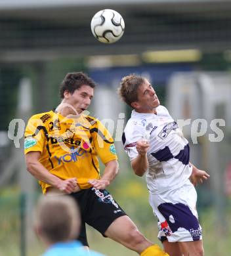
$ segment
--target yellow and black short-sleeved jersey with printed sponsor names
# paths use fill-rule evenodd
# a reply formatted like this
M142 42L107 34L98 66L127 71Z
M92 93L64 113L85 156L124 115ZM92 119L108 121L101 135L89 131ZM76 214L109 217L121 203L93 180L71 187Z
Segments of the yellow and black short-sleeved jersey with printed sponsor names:
M89 179L100 179L97 156L102 163L116 160L114 140L94 117L67 118L50 112L32 116L24 142L25 154L41 152L40 163L60 179L76 177L79 187L89 188ZM51 185L39 181L43 194Z

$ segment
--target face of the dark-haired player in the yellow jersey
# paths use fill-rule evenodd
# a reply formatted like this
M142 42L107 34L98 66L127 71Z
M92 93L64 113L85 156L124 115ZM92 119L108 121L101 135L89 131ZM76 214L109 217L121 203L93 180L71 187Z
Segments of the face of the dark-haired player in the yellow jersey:
M78 113L87 110L91 104L91 100L94 96L94 89L89 85L82 85L79 89L76 89L73 94L66 93L65 102L71 104Z

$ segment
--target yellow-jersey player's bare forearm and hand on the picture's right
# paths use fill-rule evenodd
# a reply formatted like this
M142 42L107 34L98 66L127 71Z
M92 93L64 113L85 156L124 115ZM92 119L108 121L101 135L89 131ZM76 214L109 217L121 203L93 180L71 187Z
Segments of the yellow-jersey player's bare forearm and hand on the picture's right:
M98 179L91 179L89 183L93 185L94 188L97 189L105 189L116 177L119 171L119 164L117 160L108 161L105 163L104 174L102 177Z

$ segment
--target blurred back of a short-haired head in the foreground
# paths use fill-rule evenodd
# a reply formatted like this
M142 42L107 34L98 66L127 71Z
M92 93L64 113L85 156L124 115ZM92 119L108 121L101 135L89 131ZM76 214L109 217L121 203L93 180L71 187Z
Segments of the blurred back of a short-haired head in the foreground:
M46 245L73 240L79 234L79 209L69 196L42 196L34 222L35 232Z

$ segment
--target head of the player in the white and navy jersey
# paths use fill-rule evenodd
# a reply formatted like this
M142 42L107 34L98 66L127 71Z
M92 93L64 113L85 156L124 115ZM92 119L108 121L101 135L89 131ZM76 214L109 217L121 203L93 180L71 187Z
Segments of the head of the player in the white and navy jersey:
M123 77L118 92L123 101L137 112L152 112L159 106L159 99L152 85L140 75Z

